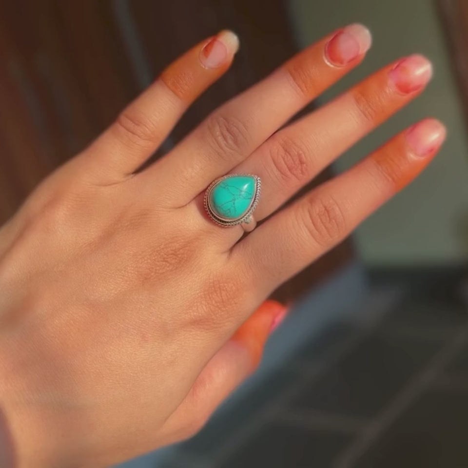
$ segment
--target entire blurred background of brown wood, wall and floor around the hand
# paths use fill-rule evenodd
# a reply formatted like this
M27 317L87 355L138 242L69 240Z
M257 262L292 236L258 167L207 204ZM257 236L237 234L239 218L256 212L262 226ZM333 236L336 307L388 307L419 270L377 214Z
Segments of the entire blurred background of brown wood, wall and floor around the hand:
M293 304L288 319L259 372L198 436L121 468L468 466L468 2L0 1L1 222L200 39L231 28L240 52L160 153L352 22L370 27L372 49L304 112L413 52L433 61L435 75L314 184L428 115L446 123L446 145L352 238L275 292Z

